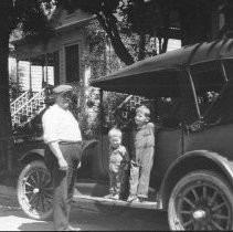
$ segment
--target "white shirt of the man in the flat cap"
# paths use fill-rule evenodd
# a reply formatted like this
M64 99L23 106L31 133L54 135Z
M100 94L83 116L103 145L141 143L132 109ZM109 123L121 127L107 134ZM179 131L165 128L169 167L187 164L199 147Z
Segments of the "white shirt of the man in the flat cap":
M82 141L80 126L68 109L57 104L50 106L42 117L44 143L51 141Z

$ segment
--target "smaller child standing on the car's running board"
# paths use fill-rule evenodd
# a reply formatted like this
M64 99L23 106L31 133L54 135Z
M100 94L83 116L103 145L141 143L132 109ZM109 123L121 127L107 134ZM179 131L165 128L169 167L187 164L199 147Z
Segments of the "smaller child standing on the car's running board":
M128 168L129 156L121 145L121 131L113 128L108 133L109 138L109 180L110 194L105 198L119 200L124 191L125 171Z

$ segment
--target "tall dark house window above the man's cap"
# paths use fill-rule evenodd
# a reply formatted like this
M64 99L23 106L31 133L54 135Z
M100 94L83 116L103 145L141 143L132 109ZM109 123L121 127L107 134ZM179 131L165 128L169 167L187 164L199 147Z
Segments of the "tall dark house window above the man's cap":
M80 82L78 44L65 48L66 82Z

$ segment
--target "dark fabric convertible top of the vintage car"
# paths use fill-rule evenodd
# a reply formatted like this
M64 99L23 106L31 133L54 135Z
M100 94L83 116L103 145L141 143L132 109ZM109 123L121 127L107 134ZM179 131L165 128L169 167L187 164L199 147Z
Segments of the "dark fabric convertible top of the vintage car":
M92 86L148 97L177 95L177 74L184 66L233 59L233 40L198 43L167 52L92 82Z

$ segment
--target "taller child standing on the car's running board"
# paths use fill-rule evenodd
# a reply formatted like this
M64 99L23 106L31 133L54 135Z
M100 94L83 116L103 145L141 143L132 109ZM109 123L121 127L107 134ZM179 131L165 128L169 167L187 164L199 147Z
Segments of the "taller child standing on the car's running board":
M155 125L149 123L150 110L141 105L136 108L135 123L129 148L131 155L129 197L127 201L139 202L148 198L150 170L155 152Z

